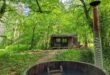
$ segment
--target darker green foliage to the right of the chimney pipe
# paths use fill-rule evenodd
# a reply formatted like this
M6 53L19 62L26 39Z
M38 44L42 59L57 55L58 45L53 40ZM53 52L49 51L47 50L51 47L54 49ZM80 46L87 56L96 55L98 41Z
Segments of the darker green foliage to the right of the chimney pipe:
M101 39L102 39L102 47L105 59L110 60L110 14L108 9L110 6L110 1L104 1L100 6L100 22L101 22ZM103 7L103 5L105 5ZM108 61L107 61L108 62ZM109 65L108 65L109 66Z

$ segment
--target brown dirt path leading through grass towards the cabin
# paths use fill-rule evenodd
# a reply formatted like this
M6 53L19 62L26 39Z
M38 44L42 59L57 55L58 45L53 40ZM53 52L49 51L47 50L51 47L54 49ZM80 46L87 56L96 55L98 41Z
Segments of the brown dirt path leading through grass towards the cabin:
M53 58L59 52L59 50L46 50L45 53L47 53L47 56L40 58L37 63L51 61L51 58Z

